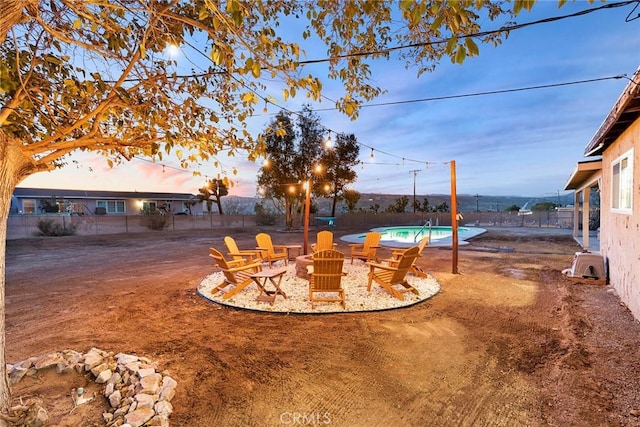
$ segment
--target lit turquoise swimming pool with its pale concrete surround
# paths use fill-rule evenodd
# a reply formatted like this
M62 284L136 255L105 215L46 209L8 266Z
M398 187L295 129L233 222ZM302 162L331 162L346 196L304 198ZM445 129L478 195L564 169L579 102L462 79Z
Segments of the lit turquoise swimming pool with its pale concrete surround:
M382 234L380 244L391 247L411 247L423 237L429 236L429 246L451 246L452 230L450 226L399 226L399 227L378 227L371 231L378 231ZM478 227L458 227L458 244L466 245L467 239L479 236L486 232L484 228ZM349 243L362 243L367 233L348 234L342 236L340 240Z

